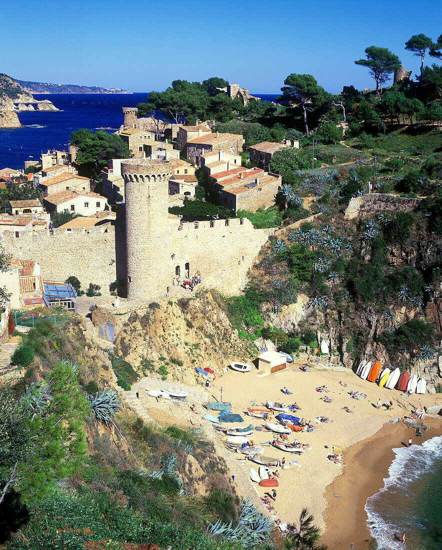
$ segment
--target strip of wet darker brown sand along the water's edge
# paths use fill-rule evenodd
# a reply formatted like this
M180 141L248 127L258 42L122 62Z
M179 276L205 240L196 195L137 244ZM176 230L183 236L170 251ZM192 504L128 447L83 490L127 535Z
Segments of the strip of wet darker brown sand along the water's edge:
M344 471L324 491L328 505L323 514L327 527L322 543L329 548L347 549L351 543L357 548L367 547L371 532L365 504L384 486L384 478L388 477L396 456L393 449L407 443L410 437L413 444L421 445L442 434L442 419L427 417L424 422L430 429L422 438L415 437L415 430L407 428L400 419L395 424L385 424L372 437L344 450Z

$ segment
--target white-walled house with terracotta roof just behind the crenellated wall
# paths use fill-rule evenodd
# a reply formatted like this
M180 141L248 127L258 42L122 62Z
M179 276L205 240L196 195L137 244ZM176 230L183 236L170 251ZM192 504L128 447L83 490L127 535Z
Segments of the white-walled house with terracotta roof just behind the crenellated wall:
M53 216L55 213L68 210L81 216L92 216L109 208L106 197L97 193L86 193L86 191L61 191L56 195L49 195L43 199L46 210Z

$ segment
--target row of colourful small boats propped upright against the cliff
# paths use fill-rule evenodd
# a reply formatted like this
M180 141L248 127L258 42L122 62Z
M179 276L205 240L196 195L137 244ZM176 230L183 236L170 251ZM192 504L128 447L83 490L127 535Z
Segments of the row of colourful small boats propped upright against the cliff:
M379 380L379 387L386 387L388 389L399 389L400 392L410 393L426 393L427 381L423 378L417 378L413 375L410 378L408 372L402 372L399 368L395 368L394 371L390 371L389 368L384 368L381 372L380 361L376 361L372 364L371 361L362 360L357 367L356 374L363 380L368 382L376 382Z

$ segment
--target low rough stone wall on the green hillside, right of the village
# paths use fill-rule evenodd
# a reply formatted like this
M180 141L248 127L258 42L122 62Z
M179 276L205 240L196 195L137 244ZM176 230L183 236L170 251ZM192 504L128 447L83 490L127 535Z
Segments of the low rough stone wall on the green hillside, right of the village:
M380 193L366 193L353 197L345 211L345 219L354 219L374 212L411 212L416 208L418 199L398 197Z

